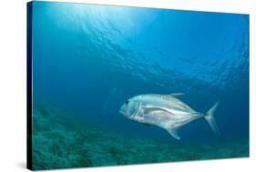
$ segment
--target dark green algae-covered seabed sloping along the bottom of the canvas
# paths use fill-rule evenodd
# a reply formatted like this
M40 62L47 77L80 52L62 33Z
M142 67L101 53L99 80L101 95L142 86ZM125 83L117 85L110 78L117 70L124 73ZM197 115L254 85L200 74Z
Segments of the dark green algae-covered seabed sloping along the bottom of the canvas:
M54 106L34 108L34 170L249 157L246 141L213 146L159 143L89 123L81 125L64 114Z

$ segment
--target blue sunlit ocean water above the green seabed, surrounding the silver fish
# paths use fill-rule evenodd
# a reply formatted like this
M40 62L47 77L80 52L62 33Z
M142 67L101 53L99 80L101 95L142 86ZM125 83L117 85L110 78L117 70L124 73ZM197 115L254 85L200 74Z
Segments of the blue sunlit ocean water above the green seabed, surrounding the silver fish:
M34 2L32 35L34 109L159 144L249 144L249 15ZM171 93L203 113L220 101L220 136L200 118L178 141L118 113L131 96Z

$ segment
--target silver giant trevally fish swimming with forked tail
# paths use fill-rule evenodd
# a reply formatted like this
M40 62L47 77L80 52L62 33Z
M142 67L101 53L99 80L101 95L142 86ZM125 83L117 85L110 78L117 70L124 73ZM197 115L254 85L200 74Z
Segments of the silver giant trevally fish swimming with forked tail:
M178 129L189 122L204 117L212 130L220 134L214 119L214 112L219 102L210 108L208 112L200 113L193 110L177 96L171 95L139 95L129 98L121 107L119 112L131 120L146 125L159 126L166 129L172 137L180 139Z

